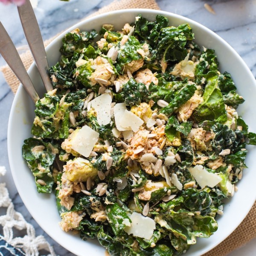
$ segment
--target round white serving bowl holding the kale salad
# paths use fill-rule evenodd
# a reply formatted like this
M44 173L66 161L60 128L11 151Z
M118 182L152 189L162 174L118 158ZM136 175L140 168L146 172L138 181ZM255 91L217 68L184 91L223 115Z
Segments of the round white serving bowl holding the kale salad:
M255 132L256 81L236 51L205 26L169 12L149 9L126 9L92 17L76 24L66 32L77 27L80 30L96 29L99 31L104 23L111 23L115 26L115 29L121 29L125 23L134 22L135 17L139 14L149 20L154 20L157 14L164 15L169 18L170 25L173 26L189 23L195 33L195 41L201 47L215 49L221 72L227 71L231 73L239 94L245 99L244 104L239 107L239 115L243 116L243 119L249 125L250 131ZM60 57L61 38L66 32L59 35L46 49L50 66L54 65ZM32 64L28 73L33 84L37 84L37 87L40 88L42 95L44 87L35 64ZM105 249L96 240L83 241L73 233L62 231L58 225L61 219L55 206L55 196L53 194L38 194L36 190L34 177L23 160L21 151L23 141L31 137L30 131L35 117L34 109L32 100L24 88L20 86L12 104L8 127L9 162L20 197L35 221L58 244L78 256L83 256L85 253L86 255L103 256L105 255ZM256 172L253 171L253 166L256 166L256 157L253 157L256 153L256 147L250 146L248 149L249 153L246 159L248 169L244 170L243 178L238 183L238 192L227 201L224 207L224 215L218 218L219 227L217 232L209 239L198 239L198 242L188 250L186 256L200 256L218 245L236 229L252 207L256 199L256 189L254 189Z

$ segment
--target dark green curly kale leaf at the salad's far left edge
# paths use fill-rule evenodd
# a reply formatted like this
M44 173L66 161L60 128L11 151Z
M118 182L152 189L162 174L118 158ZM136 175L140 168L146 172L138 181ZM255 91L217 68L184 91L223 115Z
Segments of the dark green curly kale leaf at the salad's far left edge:
M51 193L54 179L52 177L53 161L58 149L50 142L29 138L24 140L22 156L35 176L39 193Z

